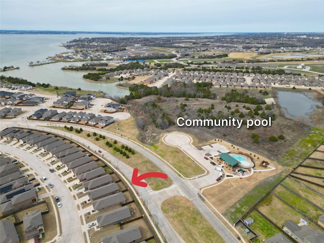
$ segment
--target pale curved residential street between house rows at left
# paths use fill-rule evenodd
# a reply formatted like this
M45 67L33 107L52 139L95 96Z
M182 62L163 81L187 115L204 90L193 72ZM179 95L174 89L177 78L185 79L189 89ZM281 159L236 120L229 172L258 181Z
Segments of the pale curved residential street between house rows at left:
M50 194L59 196L62 205L61 208L56 208L59 211L62 226L62 236L60 237L59 242L84 242L83 232L81 229L82 226L77 208L74 199L64 182L55 173L50 173L49 167L34 154L5 144L1 145L0 150L3 153L11 154L12 156L18 157L19 160L25 161L28 166L34 169L32 172L38 174L38 176L36 176L37 179L45 176L47 180L45 183L42 183L43 186L48 185L48 183L53 184L53 188L48 188ZM56 206L53 205L53 207Z

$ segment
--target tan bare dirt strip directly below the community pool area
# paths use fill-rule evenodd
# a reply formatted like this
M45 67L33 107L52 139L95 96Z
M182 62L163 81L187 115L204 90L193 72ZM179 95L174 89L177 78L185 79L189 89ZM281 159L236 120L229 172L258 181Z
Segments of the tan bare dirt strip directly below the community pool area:
M248 178L233 178L224 180L222 183L217 184L214 187L204 190L203 195L215 206L221 213L224 213L230 206L244 196L248 191L253 189L261 181L267 177L278 174L282 167L275 164L271 165L276 170L255 172L251 177ZM261 169L256 166L255 169ZM264 169L264 168L263 168Z

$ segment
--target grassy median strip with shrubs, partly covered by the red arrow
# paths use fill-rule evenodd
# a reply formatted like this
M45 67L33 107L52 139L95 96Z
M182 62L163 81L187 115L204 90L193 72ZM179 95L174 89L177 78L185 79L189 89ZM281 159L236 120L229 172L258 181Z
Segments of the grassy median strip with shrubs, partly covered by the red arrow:
M55 127L55 129L69 132L68 130L66 130L64 128ZM69 132L69 133L75 134L75 132ZM90 137L87 137L88 133L91 134ZM139 174L143 174L143 173L151 172L151 171L162 172L150 160L148 160L146 157L144 157L142 154L140 154L138 152L135 152L135 154L129 153L130 158L126 158L119 152L113 150L113 147L108 147L105 143L106 143L106 141L109 141L112 143L113 142L112 139L100 138L99 141L96 141L96 137L99 138L99 133L98 133L98 136L93 136L93 133L90 133L90 132L87 132L86 130L84 130L82 133L78 134L78 136L90 141L91 143L95 144L96 146L109 152L110 154L115 156L117 159L123 161L123 163L127 164L128 166L130 166L132 168L137 168L139 170ZM121 143L117 142L117 144L115 144L115 145L121 146ZM166 180L161 179L161 178L156 178L156 177L148 178L148 179L146 179L146 182L153 190L160 190L160 189L167 188L172 185L172 181L170 178L168 178Z

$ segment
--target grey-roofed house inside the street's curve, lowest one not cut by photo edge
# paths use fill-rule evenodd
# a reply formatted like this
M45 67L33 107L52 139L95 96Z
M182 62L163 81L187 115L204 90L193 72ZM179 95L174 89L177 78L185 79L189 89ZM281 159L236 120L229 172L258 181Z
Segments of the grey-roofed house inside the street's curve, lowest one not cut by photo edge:
M33 239L45 233L42 212L35 210L23 216L24 233L26 239Z

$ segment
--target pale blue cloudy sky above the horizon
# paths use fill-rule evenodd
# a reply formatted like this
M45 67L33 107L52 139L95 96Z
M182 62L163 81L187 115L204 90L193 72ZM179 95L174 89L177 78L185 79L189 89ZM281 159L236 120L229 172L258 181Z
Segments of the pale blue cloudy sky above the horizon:
M0 0L0 29L324 32L324 0Z

